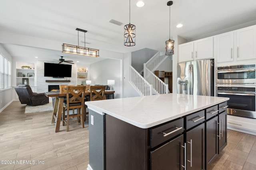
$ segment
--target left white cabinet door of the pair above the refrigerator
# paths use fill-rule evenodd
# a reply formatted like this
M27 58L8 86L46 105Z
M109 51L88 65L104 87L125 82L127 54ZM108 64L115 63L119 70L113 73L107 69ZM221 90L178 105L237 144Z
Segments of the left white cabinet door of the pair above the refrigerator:
M194 60L194 42L184 43L178 45L178 62L193 61Z

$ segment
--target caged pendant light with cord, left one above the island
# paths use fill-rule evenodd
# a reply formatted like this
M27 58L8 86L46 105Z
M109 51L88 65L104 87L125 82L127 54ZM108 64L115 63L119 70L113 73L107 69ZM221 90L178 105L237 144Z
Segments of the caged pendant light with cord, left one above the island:
M130 0L130 8L129 8L129 24L124 25L124 45L125 46L134 46L135 43L135 29L136 26L132 25L130 23L130 19L131 19L131 0Z

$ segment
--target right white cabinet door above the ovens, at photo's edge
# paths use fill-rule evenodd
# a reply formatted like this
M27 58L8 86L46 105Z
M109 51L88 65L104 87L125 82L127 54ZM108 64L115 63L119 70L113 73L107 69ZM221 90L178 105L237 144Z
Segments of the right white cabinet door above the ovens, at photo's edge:
M256 27L246 27L236 32L236 60L256 58Z

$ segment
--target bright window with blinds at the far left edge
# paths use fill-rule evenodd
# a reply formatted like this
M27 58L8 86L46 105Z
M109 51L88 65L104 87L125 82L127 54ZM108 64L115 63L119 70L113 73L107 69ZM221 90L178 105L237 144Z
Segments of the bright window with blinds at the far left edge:
M11 87L11 62L0 54L0 89Z

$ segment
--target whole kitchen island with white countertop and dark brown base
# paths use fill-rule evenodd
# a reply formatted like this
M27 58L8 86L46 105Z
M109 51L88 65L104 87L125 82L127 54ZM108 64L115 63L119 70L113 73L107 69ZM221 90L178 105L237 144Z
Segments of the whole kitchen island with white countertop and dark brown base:
M227 100L162 94L86 102L87 169L207 169L226 146Z

